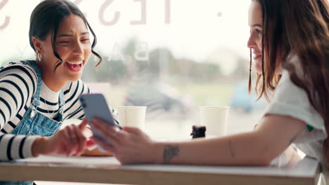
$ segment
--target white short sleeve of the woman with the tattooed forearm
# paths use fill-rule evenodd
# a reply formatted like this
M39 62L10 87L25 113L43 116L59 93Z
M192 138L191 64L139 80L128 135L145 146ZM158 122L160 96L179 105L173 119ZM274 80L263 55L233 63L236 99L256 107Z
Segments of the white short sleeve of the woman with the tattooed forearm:
M304 133L295 142L311 142L327 137L323 118L309 102L307 93L290 80L288 71L283 75L274 92L273 100L266 107L265 114L290 116L307 124Z

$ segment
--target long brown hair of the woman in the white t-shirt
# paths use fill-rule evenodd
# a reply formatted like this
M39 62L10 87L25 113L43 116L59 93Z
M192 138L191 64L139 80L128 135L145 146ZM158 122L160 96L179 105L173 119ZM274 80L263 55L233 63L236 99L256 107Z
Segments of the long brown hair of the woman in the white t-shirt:
M311 105L329 130L329 4L327 0L257 0L262 6L263 69L257 76L259 97L269 95L280 79L276 57L290 74L292 83L307 93ZM279 53L279 55L278 55ZM265 54L265 55L264 55ZM302 76L297 75L291 54L299 58ZM251 62L251 61L250 61ZM323 144L329 162L329 142ZM328 167L327 163L327 167Z

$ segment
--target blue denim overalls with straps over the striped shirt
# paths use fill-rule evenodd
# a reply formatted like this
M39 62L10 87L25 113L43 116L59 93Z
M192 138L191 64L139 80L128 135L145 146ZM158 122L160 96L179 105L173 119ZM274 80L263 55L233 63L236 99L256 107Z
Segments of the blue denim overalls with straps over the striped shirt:
M51 118L47 118L46 116L40 114L36 111L37 107L40 105L40 88L41 88L41 72L37 63L34 60L28 60L28 64L33 67L34 71L37 73L37 90L32 97L32 104L30 108L26 111L25 115L20 121L20 124L11 132L13 135L43 135L43 136L51 136L55 134L59 129L60 125L63 122L63 105L64 105L64 95L63 90L60 91L60 105L58 112L58 121L54 121ZM13 172L15 173L15 172ZM20 175L20 174L17 174ZM42 174L40 174L42 175ZM20 184L20 185L32 185L33 181L0 181L0 184Z

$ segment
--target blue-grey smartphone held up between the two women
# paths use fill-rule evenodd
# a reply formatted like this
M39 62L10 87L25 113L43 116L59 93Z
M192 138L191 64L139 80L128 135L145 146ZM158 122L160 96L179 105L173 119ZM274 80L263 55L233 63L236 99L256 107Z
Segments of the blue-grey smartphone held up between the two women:
M87 94L80 95L79 100L84 109L84 116L86 116L86 121L91 123L93 118L101 118L105 123L109 125L115 126L117 128L122 128L120 125L115 123L114 118L110 109L108 108L108 104L105 100L105 97L102 94ZM110 144L107 139L104 139L97 130L93 129L91 125L91 131L93 135L102 139L103 142Z

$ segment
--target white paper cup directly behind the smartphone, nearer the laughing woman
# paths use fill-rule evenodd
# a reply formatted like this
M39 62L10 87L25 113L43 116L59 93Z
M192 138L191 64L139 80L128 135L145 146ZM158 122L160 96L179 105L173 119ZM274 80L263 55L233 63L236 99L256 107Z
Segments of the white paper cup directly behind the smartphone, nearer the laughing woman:
M147 107L117 107L120 125L144 129Z

